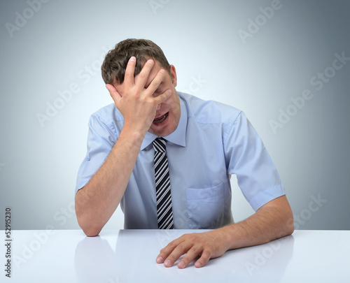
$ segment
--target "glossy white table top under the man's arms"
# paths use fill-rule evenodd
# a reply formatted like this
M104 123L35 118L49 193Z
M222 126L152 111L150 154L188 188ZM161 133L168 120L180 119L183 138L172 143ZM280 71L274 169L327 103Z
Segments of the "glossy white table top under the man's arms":
M0 282L350 282L350 231L295 231L227 252L203 268L155 263L159 250L194 230L12 231L11 279ZM4 239L5 232L0 231Z

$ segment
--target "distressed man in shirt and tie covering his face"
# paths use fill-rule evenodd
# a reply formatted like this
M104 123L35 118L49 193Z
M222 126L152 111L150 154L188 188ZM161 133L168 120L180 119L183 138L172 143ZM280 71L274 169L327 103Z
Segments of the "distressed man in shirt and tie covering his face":
M86 235L98 235L119 204L125 228L212 228L170 242L156 259L169 267L186 254L177 265L185 268L199 256L199 268L228 249L293 233L279 175L244 113L176 92L176 69L152 41L118 43L102 77L114 103L90 118L76 184L76 215ZM167 159L161 174L158 150ZM256 211L237 224L231 174ZM160 175L167 184L158 191Z

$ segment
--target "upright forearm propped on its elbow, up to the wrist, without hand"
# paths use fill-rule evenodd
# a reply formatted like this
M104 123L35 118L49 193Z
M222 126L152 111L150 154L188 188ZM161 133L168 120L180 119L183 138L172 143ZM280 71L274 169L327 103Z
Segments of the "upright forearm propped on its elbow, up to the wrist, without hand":
M98 235L118 207L144 134L123 129L109 157L76 194L76 216L86 235Z

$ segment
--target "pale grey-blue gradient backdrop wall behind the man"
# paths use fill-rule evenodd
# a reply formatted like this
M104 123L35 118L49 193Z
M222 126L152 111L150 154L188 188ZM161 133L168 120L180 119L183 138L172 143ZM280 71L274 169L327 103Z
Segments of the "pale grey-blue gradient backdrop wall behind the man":
M239 29L271 1L48 1L10 37L26 1L1 1L0 228L13 210L13 228L78 228L73 215L76 174L86 151L87 121L112 103L99 59L125 38L148 38L164 50L179 75L178 91L193 77L197 92L246 113L269 151L286 187L300 229L350 229L350 61L317 91L309 80L332 65L334 54L350 57L349 1L286 1L244 44ZM167 3L166 3L167 2ZM82 71L83 70L83 71ZM83 73L82 73L83 72ZM38 122L46 103L76 82L80 92L55 117ZM290 97L310 89L313 99L277 132ZM195 89L197 90L197 89ZM253 213L232 179L235 221ZM309 211L312 196L326 202ZM308 211L307 211L308 210ZM123 228L118 208L105 228Z

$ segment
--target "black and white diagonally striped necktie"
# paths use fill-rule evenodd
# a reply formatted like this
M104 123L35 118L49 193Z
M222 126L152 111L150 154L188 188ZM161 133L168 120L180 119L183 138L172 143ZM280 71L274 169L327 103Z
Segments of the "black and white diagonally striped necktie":
M169 166L167 152L165 150L166 144L167 140L164 138L153 140L157 218L158 228L174 229Z

